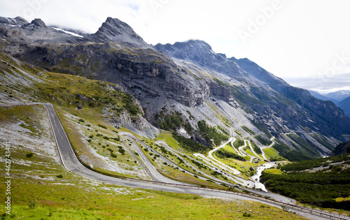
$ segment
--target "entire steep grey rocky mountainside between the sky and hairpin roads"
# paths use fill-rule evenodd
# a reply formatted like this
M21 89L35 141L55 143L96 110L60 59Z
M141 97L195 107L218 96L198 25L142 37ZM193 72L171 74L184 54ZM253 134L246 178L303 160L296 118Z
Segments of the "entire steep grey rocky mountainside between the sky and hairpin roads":
M215 145L217 133L258 145L274 135L280 154L295 159L297 152L328 155L350 133L350 119L333 103L290 87L248 59L216 54L203 41L153 50L112 18L83 38L41 20L0 21L6 53L48 71L116 83L139 99L148 122L204 145Z

